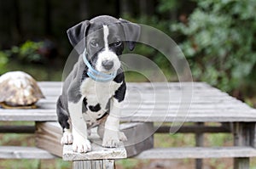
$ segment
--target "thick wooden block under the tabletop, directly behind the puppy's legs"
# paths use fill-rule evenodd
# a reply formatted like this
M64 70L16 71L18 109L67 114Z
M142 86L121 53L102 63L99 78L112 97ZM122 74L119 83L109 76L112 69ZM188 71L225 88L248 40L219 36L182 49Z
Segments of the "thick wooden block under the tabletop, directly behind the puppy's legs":
M61 157L63 146L61 145L62 130L60 125L57 122L37 122L36 128L37 147ZM145 149L153 148L152 134L154 133L154 127L152 123L123 123L120 125L120 130L125 132L125 136L128 138L124 143L127 157L137 155ZM96 129L91 132L94 136L90 137L90 140L96 142L96 149L99 150L102 141L97 138ZM93 158L96 158L96 156Z

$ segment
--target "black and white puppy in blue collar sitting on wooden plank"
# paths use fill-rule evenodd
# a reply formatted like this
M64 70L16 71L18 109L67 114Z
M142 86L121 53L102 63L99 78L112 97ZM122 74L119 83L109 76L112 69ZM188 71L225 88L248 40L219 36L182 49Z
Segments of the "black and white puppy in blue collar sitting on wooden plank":
M63 128L61 144L73 151L90 151L87 131L99 126L102 146L116 147L125 141L119 132L119 116L125 98L125 76L119 55L124 46L135 48L140 26L108 15L84 20L67 30L79 60L67 76L57 101L58 121Z

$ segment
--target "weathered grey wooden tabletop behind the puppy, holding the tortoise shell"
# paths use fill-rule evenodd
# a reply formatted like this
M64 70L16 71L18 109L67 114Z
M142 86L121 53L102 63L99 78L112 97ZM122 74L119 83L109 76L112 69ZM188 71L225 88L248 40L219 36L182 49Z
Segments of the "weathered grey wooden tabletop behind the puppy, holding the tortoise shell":
M35 110L0 109L0 121L56 121L61 82L38 82ZM191 90L192 87L192 90ZM193 97L192 97L193 94ZM191 98L192 97L192 98ZM256 110L204 82L128 83L121 121L256 121Z

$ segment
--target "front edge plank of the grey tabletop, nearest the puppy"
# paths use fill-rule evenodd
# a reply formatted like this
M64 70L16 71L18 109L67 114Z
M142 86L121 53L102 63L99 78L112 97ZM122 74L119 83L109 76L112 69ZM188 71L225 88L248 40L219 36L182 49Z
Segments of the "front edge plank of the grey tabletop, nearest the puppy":
M0 110L0 121L56 121L55 110ZM256 111L247 110L122 110L121 121L256 121Z

